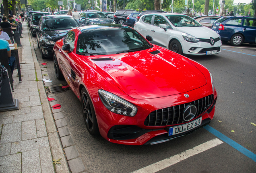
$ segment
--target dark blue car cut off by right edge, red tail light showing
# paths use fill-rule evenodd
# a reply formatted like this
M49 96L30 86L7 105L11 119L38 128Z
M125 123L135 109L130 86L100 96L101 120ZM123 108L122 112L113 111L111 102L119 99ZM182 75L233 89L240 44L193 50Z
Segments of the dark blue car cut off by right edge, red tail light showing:
M256 43L256 18L253 17L223 17L213 22L212 29L221 36L221 41L233 46Z

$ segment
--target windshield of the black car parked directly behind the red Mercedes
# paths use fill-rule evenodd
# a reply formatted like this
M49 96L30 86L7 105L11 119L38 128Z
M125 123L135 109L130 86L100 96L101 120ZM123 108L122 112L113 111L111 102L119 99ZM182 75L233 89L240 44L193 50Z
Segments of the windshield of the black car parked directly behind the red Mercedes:
M78 27L73 17L70 18L49 18L43 21L43 31L66 30Z

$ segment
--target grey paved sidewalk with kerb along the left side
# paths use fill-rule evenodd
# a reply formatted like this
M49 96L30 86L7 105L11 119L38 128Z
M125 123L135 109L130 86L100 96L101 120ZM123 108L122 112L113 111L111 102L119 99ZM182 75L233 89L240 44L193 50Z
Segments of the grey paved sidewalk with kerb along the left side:
M22 32L22 82L17 69L12 75L12 95L19 99L19 110L0 113L0 173L69 173L27 22ZM53 159L60 158L61 164L54 165Z

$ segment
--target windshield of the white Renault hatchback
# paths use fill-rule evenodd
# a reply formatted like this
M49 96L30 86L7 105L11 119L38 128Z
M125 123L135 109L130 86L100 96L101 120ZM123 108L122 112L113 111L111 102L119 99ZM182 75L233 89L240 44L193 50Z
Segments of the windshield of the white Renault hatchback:
M199 27L202 26L189 16L165 16L175 27Z

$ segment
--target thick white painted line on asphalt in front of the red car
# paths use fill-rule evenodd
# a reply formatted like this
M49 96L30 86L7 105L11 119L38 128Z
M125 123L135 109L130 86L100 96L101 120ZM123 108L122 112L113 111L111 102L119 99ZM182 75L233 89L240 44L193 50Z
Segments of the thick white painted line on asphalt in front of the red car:
M165 169L171 165L174 165L175 163L178 163L180 161L183 161L185 159L188 159L188 157L191 157L193 155L196 155L198 153L202 153L203 151L206 151L208 149L211 149L213 147L216 147L217 145L222 144L223 142L217 138L207 141L205 143L202 143L192 149L188 149L180 154L174 155L170 158L164 159L162 161L159 161L157 163L153 163L152 165L146 166L142 169L138 169L132 173L155 173L157 171L160 171L162 169Z

